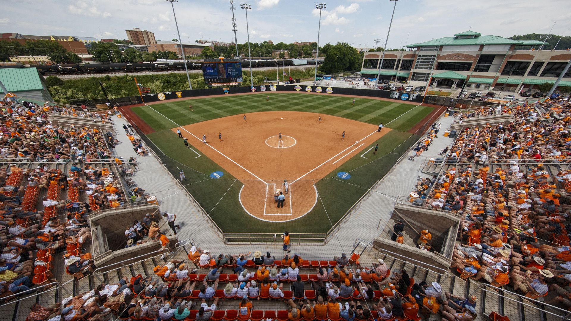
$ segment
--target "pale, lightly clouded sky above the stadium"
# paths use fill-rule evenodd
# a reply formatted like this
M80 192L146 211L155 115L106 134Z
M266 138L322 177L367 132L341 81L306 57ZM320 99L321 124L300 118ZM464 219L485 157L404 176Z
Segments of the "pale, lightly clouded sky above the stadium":
M234 6L238 42L247 41L246 14ZM286 43L317 40L319 10L307 0L242 0L248 10L251 42ZM383 46L395 2L327 1L321 11L320 46L347 42L355 47ZM19 0L0 18L2 33L73 35L127 39L138 27L157 40L178 38L171 3L165 0ZM569 0L399 0L387 48L433 38L452 37L469 29L482 35L511 37L528 33L571 36ZM198 39L234 42L228 0L179 0L174 3L183 42ZM555 15L557 8L560 14ZM555 9L555 11L554 11ZM49 13L49 15L46 15ZM18 17L25 17L21 19ZM548 17L539 19L537 17ZM373 42L378 40L378 44Z

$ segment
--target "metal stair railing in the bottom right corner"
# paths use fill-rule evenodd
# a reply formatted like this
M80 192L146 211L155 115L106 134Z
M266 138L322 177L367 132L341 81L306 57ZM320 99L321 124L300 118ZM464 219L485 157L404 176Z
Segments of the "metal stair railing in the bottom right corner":
M549 314L551 317L549 320L569 320L569 311L564 310L560 307L552 306L551 304L547 304L545 302L541 302L535 299L528 298L524 295L517 294L515 292L511 292L505 290L504 288L494 287L488 283L481 283L475 290L472 291L472 295L480 296L480 313L488 315L489 312L486 312L486 296L492 295L493 299L499 298L500 300L509 300L512 301L516 306L520 307L520 311L523 310L524 307L528 307L530 309L536 310L538 314ZM499 300L498 300L499 301ZM529 303L528 303L529 302ZM494 303L494 305L497 303ZM503 314L504 311L500 311L500 314ZM510 316L512 320L514 317L518 316ZM561 319L560 319L561 318ZM544 319L544 318L540 318Z

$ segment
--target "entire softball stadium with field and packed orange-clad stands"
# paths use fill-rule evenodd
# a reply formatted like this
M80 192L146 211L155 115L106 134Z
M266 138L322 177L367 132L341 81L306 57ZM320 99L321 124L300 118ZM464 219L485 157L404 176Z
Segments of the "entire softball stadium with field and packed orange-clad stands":
M208 89L73 104L0 68L1 319L569 320L571 61L524 76L568 54L533 50L517 83L476 58L420 77L449 51L425 45L410 74L383 50L317 77L316 53L315 78L255 85L252 59L204 58ZM467 102L477 79L552 88Z

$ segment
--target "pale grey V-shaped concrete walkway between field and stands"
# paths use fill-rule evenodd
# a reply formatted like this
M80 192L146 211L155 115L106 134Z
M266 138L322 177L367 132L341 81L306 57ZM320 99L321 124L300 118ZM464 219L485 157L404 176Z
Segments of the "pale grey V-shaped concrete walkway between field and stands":
M186 190L170 175L170 172L159 162L158 158L149 154L139 157L133 151L122 126L126 123L124 118L115 118L115 128L118 139L122 143L116 146L115 153L118 155L132 155L138 160L139 171L132 179L137 186L143 188L150 195L155 195L159 200L160 210L177 215L176 223L180 224L181 230L177 236L179 240L194 239L196 244L203 250L210 250L212 254L221 252L238 254L239 252L250 252L255 250L270 251L272 255L282 256L282 247L276 246L247 246L247 245L226 245L218 236L218 233L200 214L200 210L194 206ZM344 223L341 228L325 246L297 245L292 244L292 252L297 252L302 258L323 258L340 255L341 252L349 254L353 248L355 239L360 238L367 242L372 242L383 231L385 223L391 216L393 206L397 196L408 195L416 184L417 175L420 175L419 168L421 160L425 157L433 157L437 153L449 146L452 139L444 137L444 130L452 123L452 117L441 117L439 138L435 139L429 149L429 154L422 154L416 158L415 162L404 157L399 164L393 167L387 176L377 187L376 191L357 209L356 214ZM409 151L409 155L414 155ZM382 161L382 160L380 160ZM423 176L423 175L421 175ZM424 175L425 176L425 175ZM317 206L322 206L320 202ZM327 208L325 208L327 210ZM379 228L377 224L382 220ZM236 222L239 223L239 222ZM278 236L279 237L279 236Z

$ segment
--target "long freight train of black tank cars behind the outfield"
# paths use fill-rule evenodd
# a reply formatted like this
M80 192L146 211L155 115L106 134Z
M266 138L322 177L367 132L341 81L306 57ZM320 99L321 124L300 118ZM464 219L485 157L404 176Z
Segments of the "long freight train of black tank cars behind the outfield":
M317 63L323 63L324 58L318 58ZM249 68L249 61L241 61L242 68ZM252 60L252 67L274 67L274 66L291 66L293 61L287 59L269 60L260 59ZM315 59L307 59L307 65L315 65ZM186 66L189 70L198 70L202 68L202 61L187 62ZM22 66L0 66L0 68L15 68ZM38 69L42 75L54 74L95 74L95 73L131 73L136 71L175 71L184 70L183 62L144 62L144 63L85 63L85 64L65 64L65 65L30 65Z

